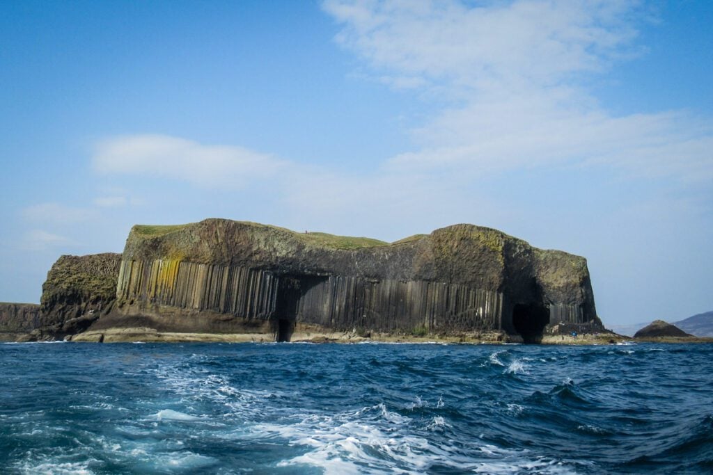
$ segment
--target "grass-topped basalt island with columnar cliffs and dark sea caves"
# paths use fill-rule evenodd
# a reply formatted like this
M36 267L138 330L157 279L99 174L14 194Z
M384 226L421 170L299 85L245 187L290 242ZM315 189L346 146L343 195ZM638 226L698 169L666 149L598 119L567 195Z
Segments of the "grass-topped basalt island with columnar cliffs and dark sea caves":
M35 338L94 341L605 331L585 259L495 229L457 224L389 244L226 219L134 226L123 254L63 256L41 320Z

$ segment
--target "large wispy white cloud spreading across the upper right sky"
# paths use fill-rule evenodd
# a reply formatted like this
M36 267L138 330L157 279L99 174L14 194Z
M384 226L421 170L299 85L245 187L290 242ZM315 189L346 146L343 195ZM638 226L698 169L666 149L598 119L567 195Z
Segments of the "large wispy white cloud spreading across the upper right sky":
M342 1L337 40L379 80L445 100L387 163L404 173L606 165L640 177L713 179L713 121L684 111L616 117L582 78L635 53L638 1ZM391 79L395 78L395 79ZM399 83L404 78L404 85Z

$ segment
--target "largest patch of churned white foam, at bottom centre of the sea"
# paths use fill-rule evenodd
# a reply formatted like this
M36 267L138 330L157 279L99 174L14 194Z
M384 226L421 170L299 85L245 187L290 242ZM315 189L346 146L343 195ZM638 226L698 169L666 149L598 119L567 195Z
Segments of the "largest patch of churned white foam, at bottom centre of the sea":
M305 447L303 454L281 461L278 466L309 465L326 474L424 473L434 464L458 472L506 474L533 466L541 473L555 473L550 462L533 460L527 451L508 451L474 442L453 447L448 442L438 444L426 434L419 437L418 419L391 412L385 404L356 412L300 417L287 424L257 424L245 437L253 438L257 432L258 437L279 437L293 447ZM435 416L425 429L443 431L448 427L451 424L446 417ZM507 461L498 464L503 459Z

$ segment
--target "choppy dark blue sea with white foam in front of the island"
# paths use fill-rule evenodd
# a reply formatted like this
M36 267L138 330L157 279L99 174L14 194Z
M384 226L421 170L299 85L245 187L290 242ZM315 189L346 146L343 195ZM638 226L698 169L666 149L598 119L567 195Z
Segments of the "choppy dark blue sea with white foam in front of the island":
M713 345L0 344L0 473L711 473L712 360Z

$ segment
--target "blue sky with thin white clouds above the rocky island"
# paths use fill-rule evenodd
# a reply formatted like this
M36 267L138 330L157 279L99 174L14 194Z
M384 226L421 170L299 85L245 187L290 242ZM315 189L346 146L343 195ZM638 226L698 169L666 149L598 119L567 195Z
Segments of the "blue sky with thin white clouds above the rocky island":
M208 217L585 256L607 325L713 310L713 2L0 2L0 301Z

